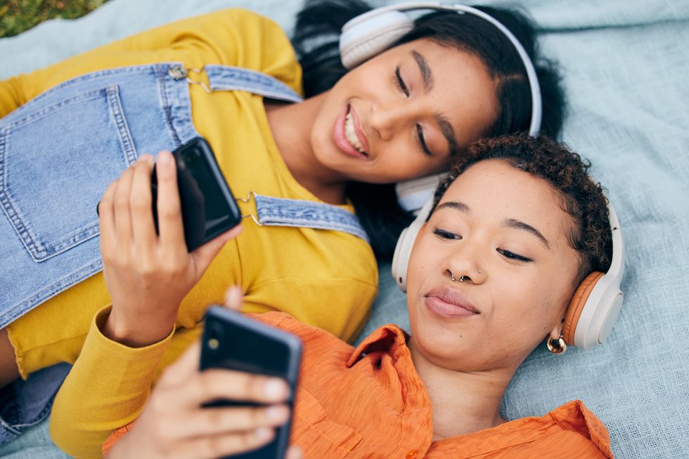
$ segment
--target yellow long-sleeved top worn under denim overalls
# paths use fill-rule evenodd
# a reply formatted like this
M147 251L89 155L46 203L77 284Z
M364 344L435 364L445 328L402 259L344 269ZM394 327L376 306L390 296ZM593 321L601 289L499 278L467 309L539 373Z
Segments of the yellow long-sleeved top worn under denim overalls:
M281 28L249 11L226 10L152 29L2 81L0 117L75 76L170 61L187 68L219 64L254 69L300 91L301 69ZM212 145L237 197L257 192L318 201L288 171L262 97L243 91L209 94L198 85L189 90L195 128ZM255 212L252 204L240 207L243 213ZM353 211L352 206L343 207ZM368 317L378 273L371 247L351 234L258 227L247 220L240 237L226 244L183 300L176 331L137 350L134 366L118 359L121 348L93 329L86 339L110 297L102 274L82 281L8 326L23 376L60 361L75 363L53 406L56 443L77 457L98 457L110 431L139 414L160 368L198 335L207 305L221 302L232 284L245 291L247 312L288 312L352 340Z

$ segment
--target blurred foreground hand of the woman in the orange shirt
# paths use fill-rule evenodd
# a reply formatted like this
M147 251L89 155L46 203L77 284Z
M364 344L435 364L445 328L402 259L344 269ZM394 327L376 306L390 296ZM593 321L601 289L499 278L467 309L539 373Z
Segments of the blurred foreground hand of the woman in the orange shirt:
M288 384L279 378L210 369L198 371L200 344L169 366L131 431L115 443L108 459L218 458L259 448L283 425ZM217 399L256 401L265 406L201 408ZM290 448L288 459L299 459Z

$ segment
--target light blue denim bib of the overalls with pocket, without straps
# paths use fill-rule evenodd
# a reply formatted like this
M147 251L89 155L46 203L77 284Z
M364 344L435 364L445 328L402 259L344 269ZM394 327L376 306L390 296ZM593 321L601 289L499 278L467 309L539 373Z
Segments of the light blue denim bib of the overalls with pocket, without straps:
M100 271L105 187L140 152L198 135L169 67L79 76L0 119L0 327Z

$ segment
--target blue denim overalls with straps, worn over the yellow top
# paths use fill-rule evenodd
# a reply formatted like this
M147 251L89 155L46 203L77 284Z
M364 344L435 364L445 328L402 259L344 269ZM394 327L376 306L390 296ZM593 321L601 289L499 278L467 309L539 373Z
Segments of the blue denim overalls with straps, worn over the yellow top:
M205 72L210 87L189 72ZM189 84L301 100L278 79L252 70L169 62L79 76L0 119L0 328L103 269L96 204L140 153L171 150L198 136ZM356 216L337 206L250 198L259 225L367 239ZM0 443L45 418L68 370L66 364L46 368L0 393Z

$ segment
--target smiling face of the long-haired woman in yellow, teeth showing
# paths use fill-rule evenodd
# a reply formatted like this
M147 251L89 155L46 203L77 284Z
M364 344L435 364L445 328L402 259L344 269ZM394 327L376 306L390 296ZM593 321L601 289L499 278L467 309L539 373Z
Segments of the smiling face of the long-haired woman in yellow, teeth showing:
M314 156L363 182L444 171L493 124L495 88L475 55L430 39L396 46L327 93L311 128Z

